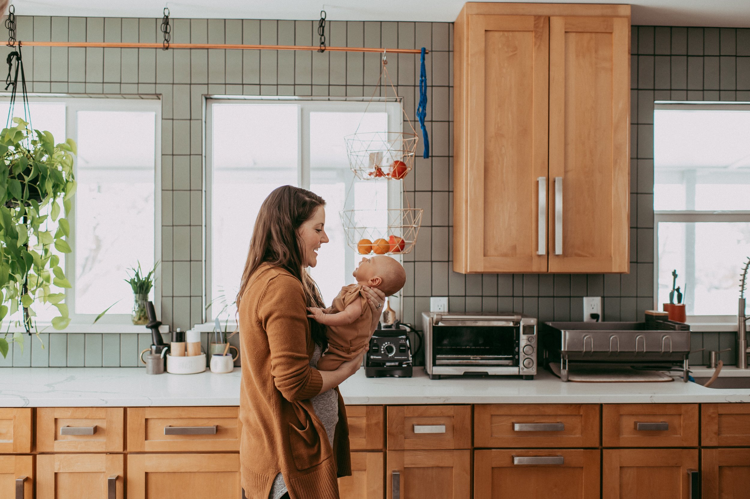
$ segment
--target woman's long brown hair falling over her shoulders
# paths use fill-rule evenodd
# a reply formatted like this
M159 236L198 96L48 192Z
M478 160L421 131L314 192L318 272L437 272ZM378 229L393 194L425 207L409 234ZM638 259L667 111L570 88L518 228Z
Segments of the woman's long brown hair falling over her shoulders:
M282 185L274 189L263 201L255 221L253 236L250 239L248 259L242 271L237 308L245 295L254 272L263 265L281 267L302 282L308 307L323 308L323 299L313 278L305 272L304 242L299 237L299 227L308 221L318 206L326 206L326 201L314 192ZM310 330L315 343L326 346L326 328L308 318Z

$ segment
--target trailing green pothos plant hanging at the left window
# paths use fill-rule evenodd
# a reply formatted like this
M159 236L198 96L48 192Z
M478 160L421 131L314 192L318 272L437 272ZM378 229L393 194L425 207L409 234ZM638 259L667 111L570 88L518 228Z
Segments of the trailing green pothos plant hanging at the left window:
M44 303L58 309L52 327L65 329L71 322L65 293L53 293L52 286L71 287L55 252L71 252L65 217L76 191L75 154L73 140L55 144L49 131L31 130L20 118L0 132L0 324L22 310L16 325L38 335L33 307ZM4 329L0 353L5 357L11 333ZM23 334L12 333L13 341L23 347Z

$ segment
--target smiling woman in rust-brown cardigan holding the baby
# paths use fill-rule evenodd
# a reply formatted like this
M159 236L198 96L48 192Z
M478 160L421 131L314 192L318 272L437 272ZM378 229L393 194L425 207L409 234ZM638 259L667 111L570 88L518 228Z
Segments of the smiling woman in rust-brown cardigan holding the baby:
M255 222L237 295L240 461L248 499L338 499L337 476L351 474L338 385L359 369L362 356L336 371L318 371L326 331L307 317L307 307L325 306L305 272L329 241L325 204L310 191L284 185L266 197ZM385 296L375 288L365 295L374 330Z

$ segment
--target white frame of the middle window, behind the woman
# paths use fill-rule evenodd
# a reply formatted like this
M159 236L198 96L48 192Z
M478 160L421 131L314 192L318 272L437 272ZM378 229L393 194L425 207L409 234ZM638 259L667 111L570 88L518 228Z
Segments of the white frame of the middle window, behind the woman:
M205 124L205 148L204 148L204 174L203 174L203 198L205 200L204 206L204 221L203 227L205 228L205 238L203 239L205 251L203 260L203 272L204 272L204 288L203 288L203 300L206 306L203 308L203 321L202 324L196 324L195 326L202 332L211 332L214 329L215 320L209 320L211 317L210 306L211 303L211 194L213 191L213 168L211 166L212 157L212 131L213 131L213 120L211 113L211 104L272 104L272 105L296 105L297 109L297 185L302 188L310 188L310 113L325 112L325 113L365 113L365 111L371 113L388 113L388 131L402 132L404 130L404 112L401 108L401 99L399 101L389 100L388 102L380 100L374 101L368 104L365 100L332 100L329 98L316 99L316 98L296 98L296 97L260 97L260 96L248 96L243 98L242 96L205 96L204 97L204 124ZM344 137L341 137L344 140ZM401 209L404 206L404 188L403 182L396 181L384 181L388 182L388 207L389 209ZM338 217L338 213L329 213L329 216ZM403 263L403 257L401 255L391 255L395 257L400 263ZM238 269L238 280L242 269ZM342 283L343 285L344 283ZM402 310L402 293L398 293L397 296L392 296L389 299L391 308L396 312L396 317L401 319ZM225 320L220 320L222 328L232 330L236 327L236 321L234 317L229 317Z

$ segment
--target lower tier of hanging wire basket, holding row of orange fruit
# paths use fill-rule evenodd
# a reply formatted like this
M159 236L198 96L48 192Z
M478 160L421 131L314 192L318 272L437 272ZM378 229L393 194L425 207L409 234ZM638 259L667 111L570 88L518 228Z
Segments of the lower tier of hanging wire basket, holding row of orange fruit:
M421 208L340 212L347 244L359 254L410 253L422 225Z

